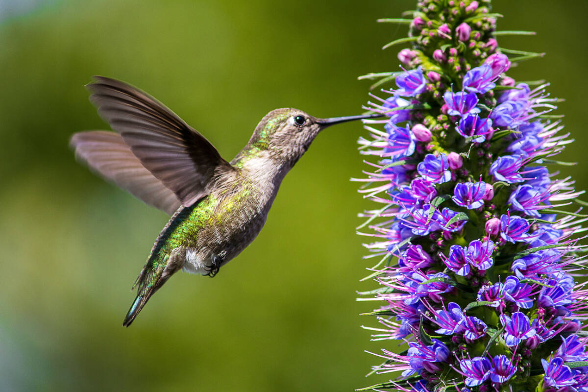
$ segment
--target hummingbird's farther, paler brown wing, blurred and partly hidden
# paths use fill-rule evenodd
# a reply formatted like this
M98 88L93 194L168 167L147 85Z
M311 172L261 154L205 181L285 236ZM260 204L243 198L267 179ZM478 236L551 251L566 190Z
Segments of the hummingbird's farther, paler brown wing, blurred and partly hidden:
M181 205L175 193L145 169L118 133L105 130L79 132L72 136L69 144L75 150L76 158L148 205L169 215Z

